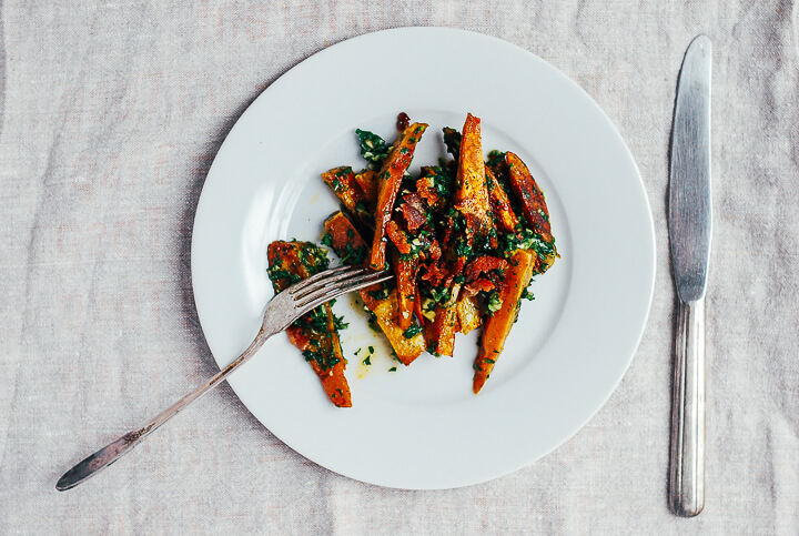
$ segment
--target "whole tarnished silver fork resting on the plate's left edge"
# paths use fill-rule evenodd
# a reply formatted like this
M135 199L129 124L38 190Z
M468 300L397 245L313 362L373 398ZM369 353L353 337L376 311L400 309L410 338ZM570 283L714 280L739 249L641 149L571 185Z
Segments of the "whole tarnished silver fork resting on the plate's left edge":
M291 285L280 294L276 294L266 305L263 322L261 323L261 328L255 340L233 363L224 367L219 374L202 384L194 392L189 393L159 413L158 416L141 428L127 433L69 469L59 479L58 484L55 484L55 489L64 492L73 488L128 454L159 426L214 388L230 376L233 371L246 363L250 357L255 355L259 348L263 346L269 337L289 327L292 322L303 314L343 294L388 281L391 277L392 275L387 272L371 272L365 269L340 266L312 275L306 280Z

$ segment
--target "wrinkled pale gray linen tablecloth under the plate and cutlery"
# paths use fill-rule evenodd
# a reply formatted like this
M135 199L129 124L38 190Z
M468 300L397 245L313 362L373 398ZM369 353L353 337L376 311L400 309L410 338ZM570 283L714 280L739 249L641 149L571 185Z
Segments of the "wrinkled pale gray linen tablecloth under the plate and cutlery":
M0 534L798 534L798 12L792 0L0 2ZM304 459L224 385L109 472L55 492L71 464L216 371L190 242L239 115L310 54L403 26L540 55L629 144L657 279L619 388L527 468L406 492ZM666 503L666 193L676 78L700 32L716 59L707 506L681 519Z

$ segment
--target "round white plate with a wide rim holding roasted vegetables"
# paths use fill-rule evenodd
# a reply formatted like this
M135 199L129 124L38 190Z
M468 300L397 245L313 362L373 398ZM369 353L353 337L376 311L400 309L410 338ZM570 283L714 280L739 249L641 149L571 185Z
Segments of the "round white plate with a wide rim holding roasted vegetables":
M416 166L443 154L441 129L459 130L472 112L483 120L486 152L518 153L547 198L562 259L536 277L536 300L524 304L485 388L472 394L475 336L458 335L452 358L423 354L404 367L350 300L335 309L351 325L342 345L354 407L327 401L282 334L230 383L272 433L324 467L390 487L457 487L544 456L614 391L651 301L651 214L609 119L538 57L452 29L351 39L270 85L209 172L194 221L192 277L220 366L247 346L272 296L266 245L317 241L322 221L337 209L320 173L360 166L355 129L393 140L401 111L431 125ZM377 356L366 367L354 352L368 345Z

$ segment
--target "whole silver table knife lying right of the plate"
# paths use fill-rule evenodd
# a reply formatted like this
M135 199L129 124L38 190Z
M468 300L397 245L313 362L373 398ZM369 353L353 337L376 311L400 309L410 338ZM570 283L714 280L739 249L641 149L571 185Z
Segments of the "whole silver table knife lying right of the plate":
M677 287L669 503L705 506L705 289L710 260L710 71L707 36L691 41L677 88L669 178L669 240Z

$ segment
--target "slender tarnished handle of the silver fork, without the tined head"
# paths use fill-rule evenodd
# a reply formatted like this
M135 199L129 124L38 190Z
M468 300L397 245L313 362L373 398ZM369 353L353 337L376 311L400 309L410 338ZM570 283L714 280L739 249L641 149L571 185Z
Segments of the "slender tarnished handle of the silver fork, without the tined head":
M139 429L131 431L120 437L119 439L111 442L100 451L95 452L91 456L87 457L78 465L69 469L55 484L55 489L64 492L71 489L78 484L82 483L87 478L98 474L109 465L117 462L119 458L128 454L133 449L134 446L139 445L146 436L155 432L155 429L164 424L170 418L174 417L185 406L202 397L205 393L214 388L216 385L222 383L229 375L233 373L241 365L246 363L250 357L255 355L266 340L272 336L272 333L265 333L263 326L259 332L255 340L239 357L233 361L230 365L220 371L214 377L199 386L193 392L179 400L170 407L159 413L152 421L142 426Z

